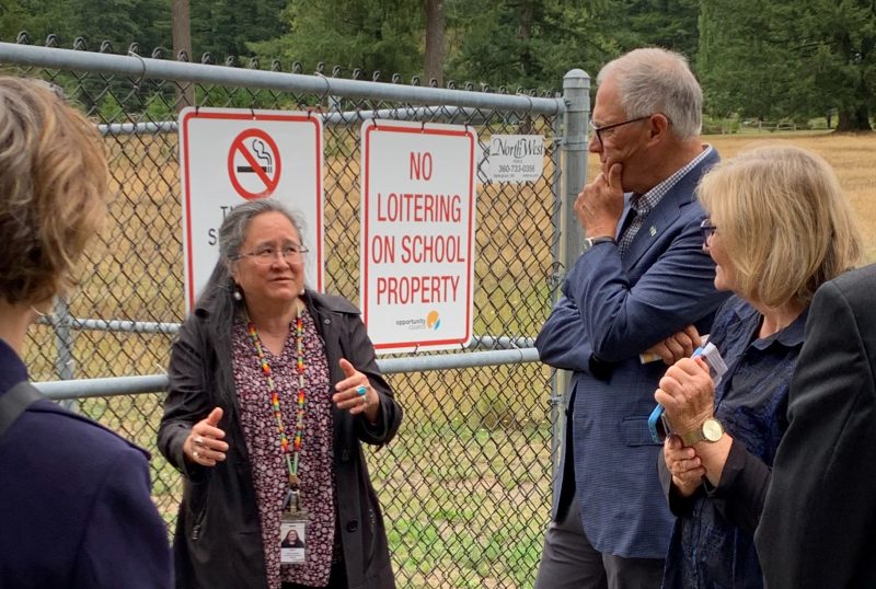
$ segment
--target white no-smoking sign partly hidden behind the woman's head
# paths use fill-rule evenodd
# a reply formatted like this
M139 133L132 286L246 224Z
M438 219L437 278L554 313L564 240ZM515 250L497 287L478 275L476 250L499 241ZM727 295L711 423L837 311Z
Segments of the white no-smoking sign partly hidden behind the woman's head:
M299 212L306 280L323 287L322 120L308 113L185 108L180 113L185 302L219 258L219 226L235 206L273 196Z

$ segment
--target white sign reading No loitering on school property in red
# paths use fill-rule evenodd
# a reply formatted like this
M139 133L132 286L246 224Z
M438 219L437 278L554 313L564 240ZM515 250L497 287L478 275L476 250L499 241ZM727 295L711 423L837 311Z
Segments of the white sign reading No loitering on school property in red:
M378 353L471 339L477 138L473 129L362 125L360 292Z

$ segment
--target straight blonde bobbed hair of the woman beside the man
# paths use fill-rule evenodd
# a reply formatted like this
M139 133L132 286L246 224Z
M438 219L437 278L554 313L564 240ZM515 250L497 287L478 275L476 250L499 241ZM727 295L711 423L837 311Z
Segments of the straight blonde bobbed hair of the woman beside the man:
M702 177L699 197L749 300L808 304L860 261L861 233L837 175L804 149L744 151Z

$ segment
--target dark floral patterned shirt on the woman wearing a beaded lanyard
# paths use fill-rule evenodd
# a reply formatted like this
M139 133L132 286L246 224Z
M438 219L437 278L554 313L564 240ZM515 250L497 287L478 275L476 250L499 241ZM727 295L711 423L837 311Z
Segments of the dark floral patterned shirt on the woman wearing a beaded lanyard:
M262 522L268 587L281 582L310 586L328 584L335 547L335 483L333 469L332 390L323 342L313 317L304 311L304 432L298 460L301 504L310 515L307 559L303 565L280 565L280 511L289 490L288 469L280 450L277 423L270 407L267 379L246 325L234 324L232 361L240 402L240 419L250 453L253 485ZM280 413L291 442L298 409L297 335L291 325L279 356L262 346L280 396Z

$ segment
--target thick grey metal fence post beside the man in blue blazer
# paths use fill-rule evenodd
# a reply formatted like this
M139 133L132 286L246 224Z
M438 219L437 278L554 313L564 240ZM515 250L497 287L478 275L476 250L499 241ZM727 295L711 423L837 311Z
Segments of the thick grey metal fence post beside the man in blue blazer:
M562 180L560 201L560 251L557 252L558 267L562 268L560 279L565 276L566 268L572 267L581 251L581 234L578 219L575 216L575 199L587 182L587 120L590 114L590 77L580 69L569 70L563 78L563 101L566 111L563 116L563 147L562 147ZM560 289L556 289L558 296ZM551 439L551 455L553 467L558 465L561 441L565 431L565 407L569 393L572 374L565 370L557 371L551 383L552 399L551 417L553 435ZM560 493L554 488L553 493Z

